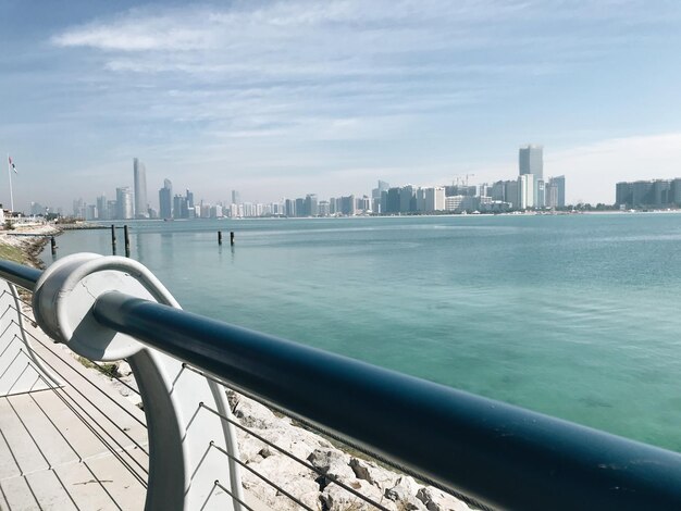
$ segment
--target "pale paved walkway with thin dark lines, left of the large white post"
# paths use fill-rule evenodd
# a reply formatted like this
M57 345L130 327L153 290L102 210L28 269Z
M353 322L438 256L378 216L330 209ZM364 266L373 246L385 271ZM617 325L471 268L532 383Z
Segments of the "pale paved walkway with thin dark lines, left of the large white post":
M64 347L27 329L67 385L0 397L0 509L144 509L144 412Z

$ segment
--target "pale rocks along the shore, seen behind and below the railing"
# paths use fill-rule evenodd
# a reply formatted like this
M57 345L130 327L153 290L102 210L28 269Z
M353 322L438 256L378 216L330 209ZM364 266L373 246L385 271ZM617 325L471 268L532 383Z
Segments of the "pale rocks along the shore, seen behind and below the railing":
M18 247L24 263L42 267L40 252L50 235L60 233L51 226L32 226L26 232L39 236L12 236L0 234L0 245ZM75 354L74 354L75 357ZM125 385L90 369L99 378L137 406L140 398ZM129 365L117 363L113 371L127 385L136 388ZM296 425L290 419L274 413L269 408L227 390L234 416L245 429L251 431L286 452L304 460L304 465L283 454L276 448L237 428L242 461L265 478L272 481L313 510L360 511L375 507L364 502L334 482L340 482L391 511L467 511L465 502L432 486L423 485L413 477L380 466L357 453L334 447L322 436ZM408 441L408 440L406 440ZM453 461L454 462L454 461ZM313 469L313 470L312 470ZM257 510L297 510L296 502L247 470L242 471L243 485L249 500L256 500Z

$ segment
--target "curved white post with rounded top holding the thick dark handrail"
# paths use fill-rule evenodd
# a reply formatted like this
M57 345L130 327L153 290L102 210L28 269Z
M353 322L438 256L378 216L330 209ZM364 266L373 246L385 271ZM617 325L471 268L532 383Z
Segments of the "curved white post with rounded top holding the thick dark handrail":
M211 403L231 416L224 388L185 369L182 361L101 326L91 308L97 297L112 290L179 308L136 261L79 253L57 261L38 281L33 300L36 321L82 357L102 362L125 359L131 364L149 432L147 510L240 511L238 465L211 448L212 441L238 458L235 432L200 407ZM215 481L233 497L219 493Z

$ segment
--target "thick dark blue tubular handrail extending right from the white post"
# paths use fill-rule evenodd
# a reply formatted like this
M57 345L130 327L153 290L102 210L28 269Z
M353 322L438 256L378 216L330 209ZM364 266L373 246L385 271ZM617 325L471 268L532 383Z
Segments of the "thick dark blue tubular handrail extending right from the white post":
M676 452L116 291L92 315L491 507L681 509Z

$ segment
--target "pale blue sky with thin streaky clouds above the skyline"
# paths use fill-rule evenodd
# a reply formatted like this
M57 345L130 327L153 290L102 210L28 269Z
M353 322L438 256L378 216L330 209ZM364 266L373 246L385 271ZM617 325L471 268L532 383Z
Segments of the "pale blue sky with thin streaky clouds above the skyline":
M676 3L8 0L0 16L0 150L25 211L133 186L135 154L148 183L209 201L490 183L533 140L572 203L681 170Z

